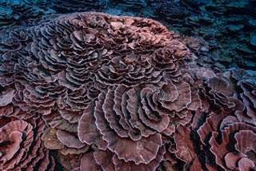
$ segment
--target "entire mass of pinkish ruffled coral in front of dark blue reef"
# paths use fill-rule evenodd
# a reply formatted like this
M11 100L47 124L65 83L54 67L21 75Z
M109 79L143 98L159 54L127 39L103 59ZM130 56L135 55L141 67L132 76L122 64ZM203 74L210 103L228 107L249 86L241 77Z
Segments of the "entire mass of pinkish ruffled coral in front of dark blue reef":
M254 78L197 65L190 38L97 12L4 37L0 170L256 169Z

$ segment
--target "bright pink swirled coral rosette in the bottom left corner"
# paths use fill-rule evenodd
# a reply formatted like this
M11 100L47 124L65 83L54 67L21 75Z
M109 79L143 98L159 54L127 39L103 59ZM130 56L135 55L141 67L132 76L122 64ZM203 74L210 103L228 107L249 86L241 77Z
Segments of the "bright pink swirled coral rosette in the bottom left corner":
M14 118L15 119L15 118ZM54 170L54 158L42 145L42 119L15 120L0 128L0 170Z

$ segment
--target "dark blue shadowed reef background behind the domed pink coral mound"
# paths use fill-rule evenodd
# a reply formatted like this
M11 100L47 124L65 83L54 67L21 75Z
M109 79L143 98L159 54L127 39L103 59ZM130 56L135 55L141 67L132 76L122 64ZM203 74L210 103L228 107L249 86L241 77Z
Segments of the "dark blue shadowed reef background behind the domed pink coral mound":
M34 26L47 14L98 11L137 16L156 19L208 46L194 51L203 64L255 71L255 9L255 0L0 0L0 38L6 27Z

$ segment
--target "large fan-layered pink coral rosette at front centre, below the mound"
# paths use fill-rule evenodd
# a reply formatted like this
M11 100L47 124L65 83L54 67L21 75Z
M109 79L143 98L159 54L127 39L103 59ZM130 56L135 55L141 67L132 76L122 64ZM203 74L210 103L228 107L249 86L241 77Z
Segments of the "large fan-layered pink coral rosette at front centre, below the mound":
M193 103L198 104L197 108L191 107ZM108 149L104 153L114 153L111 156L115 156L116 169L117 165L129 164L141 169L148 165L148 170L154 170L156 165L150 166L150 162L155 163L158 153L162 153L162 136L173 133L175 125L186 125L178 119L198 107L200 103L192 100L190 84L184 81L167 79L158 85L131 88L114 85L100 93L98 101L85 110L79 121L78 137L98 149Z

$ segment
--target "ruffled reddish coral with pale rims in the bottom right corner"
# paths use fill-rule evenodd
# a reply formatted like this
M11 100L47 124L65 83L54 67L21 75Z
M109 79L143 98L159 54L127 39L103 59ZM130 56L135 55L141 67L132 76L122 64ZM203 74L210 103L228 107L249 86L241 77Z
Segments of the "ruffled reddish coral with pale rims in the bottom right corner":
M249 153L255 153L255 127L239 122L236 117L224 116L223 113L212 114L198 129L202 143L209 141L210 152L214 153L216 164L223 169L253 169L255 161Z

